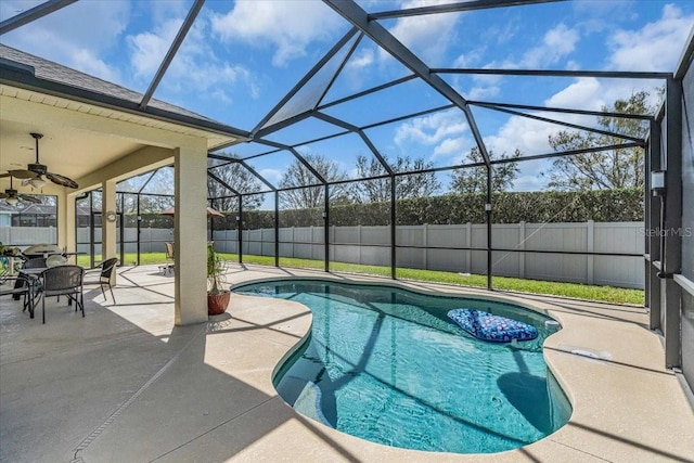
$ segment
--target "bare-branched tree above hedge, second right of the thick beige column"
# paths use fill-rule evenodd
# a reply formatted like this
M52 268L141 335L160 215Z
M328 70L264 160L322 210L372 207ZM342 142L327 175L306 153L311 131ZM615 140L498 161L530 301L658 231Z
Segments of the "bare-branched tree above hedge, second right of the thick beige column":
M318 173L327 182L346 180L347 175L340 169L339 164L322 155L306 155L304 158ZM323 207L325 202L324 187L307 187L320 183L311 171L298 159L294 160L286 169L280 181L281 189L292 188L282 192L280 205L288 209L304 209L312 207ZM295 188L307 187L307 188ZM346 202L347 189L344 184L334 184L329 188L329 200L331 202Z

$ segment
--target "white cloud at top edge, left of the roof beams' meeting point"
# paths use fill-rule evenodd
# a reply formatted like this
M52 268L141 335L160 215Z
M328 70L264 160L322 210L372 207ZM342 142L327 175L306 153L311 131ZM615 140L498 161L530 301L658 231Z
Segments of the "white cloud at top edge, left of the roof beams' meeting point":
M344 24L330 8L310 0L239 1L229 13L211 17L213 31L223 41L274 47L274 66L306 55L312 41L329 39Z

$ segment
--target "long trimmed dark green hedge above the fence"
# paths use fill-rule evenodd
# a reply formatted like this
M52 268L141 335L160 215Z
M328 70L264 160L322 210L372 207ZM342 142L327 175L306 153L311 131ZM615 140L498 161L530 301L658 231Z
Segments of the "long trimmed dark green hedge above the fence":
M400 200L396 203L397 224L484 223L486 196L448 194ZM638 189L581 192L513 192L492 197L494 223L624 222L643 220L643 193ZM322 226L322 208L280 211L280 227ZM236 213L215 219L215 229L236 228ZM274 211L244 211L244 229L274 227ZM126 218L126 223L133 218ZM390 204L339 204L330 208L330 223L336 227L384 226L390 223ZM142 227L172 227L171 218L142 215Z

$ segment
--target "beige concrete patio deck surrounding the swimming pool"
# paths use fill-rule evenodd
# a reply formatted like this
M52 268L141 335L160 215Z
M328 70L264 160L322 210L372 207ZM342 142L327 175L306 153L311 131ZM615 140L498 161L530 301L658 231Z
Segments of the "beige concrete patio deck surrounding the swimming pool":
M235 265L229 280L294 275L394 283ZM83 319L50 301L44 325L40 310L30 320L10 298L0 299L0 461L694 461L694 413L674 374L663 368L663 346L643 309L492 294L548 311L563 324L545 342L545 359L574 414L562 429L525 448L458 455L368 442L286 406L271 376L310 329L301 305L232 295L228 314L177 327L174 278L156 266L119 269L114 292L118 304L104 304L90 286Z

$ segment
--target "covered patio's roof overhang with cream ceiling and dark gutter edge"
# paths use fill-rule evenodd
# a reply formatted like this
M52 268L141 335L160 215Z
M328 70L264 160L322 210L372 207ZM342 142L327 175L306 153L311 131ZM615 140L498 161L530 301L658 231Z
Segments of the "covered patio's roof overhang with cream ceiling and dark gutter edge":
M99 187L97 178L105 173L104 168L137 156L147 146L171 150L185 139L205 139L207 149L214 150L247 140L248 134L241 130L177 106L155 103L141 108L141 95L136 92L105 83L104 92L99 92L85 88L101 83L91 76L62 66L52 69L54 64L50 62L30 63L23 53L7 47L0 51L0 172L23 169L36 160L30 132L44 136L40 141L41 164L78 183L79 179L87 180L80 183L80 190ZM156 163L141 168L126 163L134 166L127 176L170 164L170 155L166 158L150 158ZM123 172L118 177L125 176ZM10 179L0 178L0 191L7 188ZM37 193L18 182L14 188ZM53 185L42 189L48 194L60 191L62 188Z

